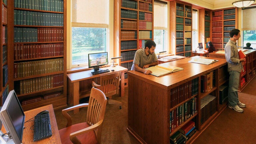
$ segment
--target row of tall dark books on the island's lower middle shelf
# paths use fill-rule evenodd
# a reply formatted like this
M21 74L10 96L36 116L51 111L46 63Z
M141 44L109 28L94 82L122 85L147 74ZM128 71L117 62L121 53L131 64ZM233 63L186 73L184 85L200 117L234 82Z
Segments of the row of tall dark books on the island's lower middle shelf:
M208 118L216 112L216 97L207 95L201 99L201 124L208 120Z

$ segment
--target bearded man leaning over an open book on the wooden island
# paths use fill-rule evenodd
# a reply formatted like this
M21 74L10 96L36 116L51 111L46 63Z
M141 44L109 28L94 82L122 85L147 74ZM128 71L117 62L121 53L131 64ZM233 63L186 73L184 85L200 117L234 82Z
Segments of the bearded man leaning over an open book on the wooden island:
M145 48L136 51L131 70L143 72L144 74L151 74L152 71L144 68L158 65L155 49L156 43L152 40L148 40L145 43Z

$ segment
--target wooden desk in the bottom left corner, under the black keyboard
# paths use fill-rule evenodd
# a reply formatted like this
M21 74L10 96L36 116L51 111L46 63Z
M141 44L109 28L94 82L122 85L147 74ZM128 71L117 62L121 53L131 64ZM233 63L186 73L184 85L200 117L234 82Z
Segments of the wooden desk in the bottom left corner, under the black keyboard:
M30 127L34 125L34 119L32 119L32 121L28 121L24 124L25 128L23 130L23 137L22 137L23 144L53 144L53 143L61 144L59 130L58 130L52 105L47 105L47 106L43 106L33 110L25 111L24 112L26 116L25 121L35 117L39 112L43 110L49 111L51 128L52 128L52 136L40 141L33 142L34 130L30 129ZM2 130L5 131L4 127L2 127Z

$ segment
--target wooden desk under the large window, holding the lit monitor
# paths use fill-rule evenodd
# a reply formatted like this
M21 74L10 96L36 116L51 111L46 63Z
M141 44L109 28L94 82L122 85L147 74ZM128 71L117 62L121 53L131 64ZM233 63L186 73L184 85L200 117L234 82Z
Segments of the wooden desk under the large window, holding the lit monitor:
M114 72L117 71L121 71L121 97L124 96L124 72L127 71L127 68L121 67L116 65L116 67L103 67L101 69L109 69L110 72L107 73L112 73L112 69L114 69ZM97 75L92 75L91 70L86 70L86 71L81 71L81 72L74 72L74 73L69 73L67 74L67 77L69 79L69 101L68 104L73 104L73 105L78 105L79 104L79 98L80 95L86 97L86 96L90 96L90 90L85 90L85 92L83 94L80 93L79 90L79 82L83 81L83 80L89 80L89 79L93 79L96 77L100 77L101 74L97 74ZM106 74L106 73L103 73ZM90 85L90 88L92 88L92 84L89 83L88 85ZM79 109L74 110L74 113L79 112Z

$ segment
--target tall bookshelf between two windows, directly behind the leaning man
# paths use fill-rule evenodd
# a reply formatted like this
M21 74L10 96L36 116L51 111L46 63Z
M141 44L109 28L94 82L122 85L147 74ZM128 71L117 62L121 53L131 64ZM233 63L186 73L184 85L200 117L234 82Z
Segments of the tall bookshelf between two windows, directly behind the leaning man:
M136 50L153 40L154 0L114 0L115 55L123 56L119 65L131 70ZM125 73L125 85L128 84Z

